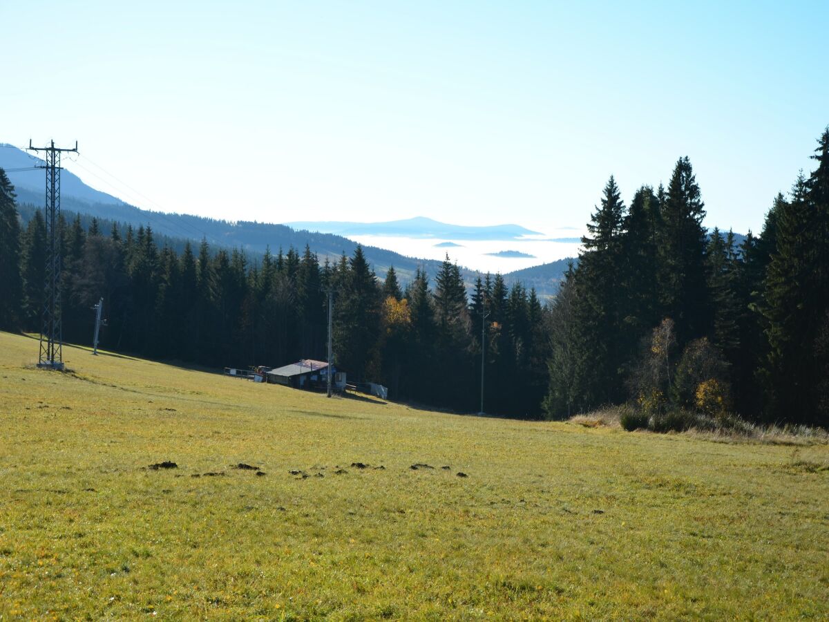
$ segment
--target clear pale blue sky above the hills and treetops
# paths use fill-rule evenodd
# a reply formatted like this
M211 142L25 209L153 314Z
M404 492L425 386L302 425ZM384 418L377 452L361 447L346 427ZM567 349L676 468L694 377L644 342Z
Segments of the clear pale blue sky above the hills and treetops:
M227 220L584 226L689 156L759 231L829 124L829 2L11 2L0 142Z

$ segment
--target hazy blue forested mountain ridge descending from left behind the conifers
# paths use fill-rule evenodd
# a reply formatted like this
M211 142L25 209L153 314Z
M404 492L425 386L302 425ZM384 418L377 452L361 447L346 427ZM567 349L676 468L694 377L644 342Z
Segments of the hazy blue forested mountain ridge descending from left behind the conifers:
M35 208L43 207L46 194L45 173L42 170L15 171L15 169L32 168L36 164L26 152L18 148L8 145L0 147L0 168L12 171L7 175L15 186L17 203L24 222L32 217ZM280 248L287 251L293 246L301 251L305 245L309 245L311 250L317 253L321 262L326 258L337 261L343 253L353 254L357 246L355 241L343 236L297 231L285 225L250 221L230 222L202 216L143 210L87 186L79 177L66 170L61 173L61 207L67 218L72 218L75 214L80 214L85 222L89 222L92 217L98 218L102 221L104 231L108 231L114 222L134 227L151 226L161 243L172 245L178 250L183 248L187 240L197 244L205 239L214 250L217 248L245 250L251 260L259 260L268 248L275 254ZM470 227L470 229L476 228ZM481 228L487 229L487 227ZM522 228L519 227L519 229ZM528 230L522 229L522 231ZM408 257L376 246L364 246L363 250L378 277L385 278L389 266L394 265L395 272L403 284L414 279L414 272L418 268L425 270L434 284L434 276L438 274L441 265L438 260ZM465 283L471 288L478 272L468 268L462 268L461 272ZM516 281L516 277L512 274L514 273L504 275L507 284ZM550 297L557 291L557 281L553 279L545 286L545 289L538 289L538 294Z

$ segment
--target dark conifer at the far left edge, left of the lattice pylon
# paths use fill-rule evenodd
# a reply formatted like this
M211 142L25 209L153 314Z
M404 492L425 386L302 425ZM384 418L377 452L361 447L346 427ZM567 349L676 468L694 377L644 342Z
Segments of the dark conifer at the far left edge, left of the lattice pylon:
M12 183L0 168L0 329L19 328L23 284L20 275L20 222Z

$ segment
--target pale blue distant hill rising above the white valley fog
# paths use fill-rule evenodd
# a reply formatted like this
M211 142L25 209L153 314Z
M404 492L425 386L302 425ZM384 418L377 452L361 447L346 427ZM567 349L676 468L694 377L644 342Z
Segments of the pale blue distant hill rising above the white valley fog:
M541 235L537 231L530 231L518 225L450 225L423 216L387 222L301 221L285 224L294 229L336 233L338 236L405 236L447 240L507 241L516 240L522 236Z

